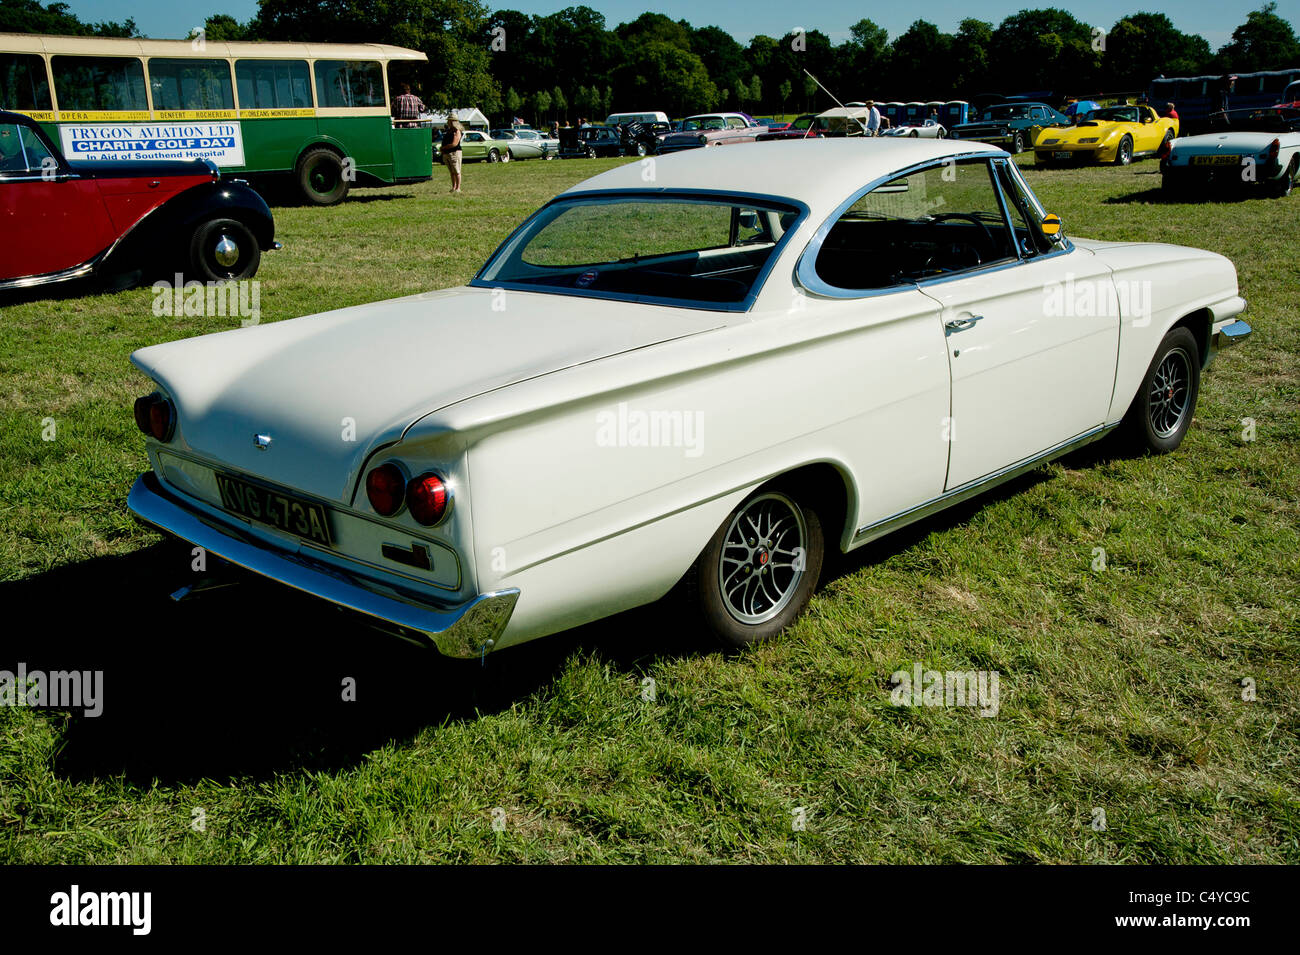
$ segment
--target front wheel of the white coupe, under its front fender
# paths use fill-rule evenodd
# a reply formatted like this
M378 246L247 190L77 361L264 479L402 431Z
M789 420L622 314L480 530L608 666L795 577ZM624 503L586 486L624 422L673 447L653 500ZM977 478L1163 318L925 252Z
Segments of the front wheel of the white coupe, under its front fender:
M1119 425L1118 439L1136 453L1167 455L1183 443L1201 388L1201 353L1186 327L1171 330L1147 366Z

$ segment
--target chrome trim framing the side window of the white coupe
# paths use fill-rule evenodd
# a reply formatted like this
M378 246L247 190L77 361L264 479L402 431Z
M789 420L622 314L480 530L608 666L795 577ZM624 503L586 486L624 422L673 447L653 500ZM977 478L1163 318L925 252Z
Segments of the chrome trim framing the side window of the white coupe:
M902 177L911 175L914 173L924 172L935 166L941 166L950 161L961 162L962 160L970 160L970 159L983 160L985 172L989 174L991 183L993 185L994 191L997 192L998 205L1002 210L1002 222L1011 234L1011 246L1015 249L1014 259L998 259L997 261L989 262L988 265L976 265L970 269L962 269L961 272L949 273L946 275L935 275L932 278L904 282L900 285L887 286L884 288L840 288L838 286L831 285L816 273L816 257L822 252L822 243L826 242L826 236L829 234L831 229L835 227L835 223L840 221L840 217L844 216L844 213L848 212L864 195L879 188L880 186L884 186L888 182L893 182L894 179L901 179ZM1010 210L1006 207L1006 196L1004 195L1001 182L998 182L996 177L993 164L1004 164L1010 170L1011 177L1015 179L1020 191L1026 195L1027 199L1030 199L1030 208L1034 212L1039 213L1039 218L1041 220L1043 216L1046 213L1043 212L1041 203L1039 203L1037 196L1034 195L1034 190L1028 187L1028 185L1024 182L1024 178L1019 174L1019 169L1017 168L1015 160L1013 160L1010 155L1005 152L991 153L980 149L980 151L954 153L952 156L944 156L941 159L926 160L924 162L916 162L911 166L905 166L902 169L898 169L896 172L872 179L861 190L853 192L845 201L840 203L840 205L836 207L836 209L826 218L826 221L822 222L820 226L818 226L818 230L812 234L812 238L809 239L807 244L803 247L803 251L800 253L798 261L794 264L794 277L798 279L798 283L803 286L803 288L807 292L811 292L812 295L819 295L822 298L872 299L879 295L892 295L894 292L901 292L901 291L919 291L930 286L942 285L945 282L954 282L957 279L968 278L971 275L983 275L991 272L1001 272L1002 269L1013 269L1018 265L1023 265L1027 261L1043 261L1044 259L1052 259L1060 255L1067 255L1072 252L1074 244L1067 238L1065 238L1065 235L1062 235L1061 242L1056 243L1057 248L1053 248L1048 252L1040 252L1032 256L1024 256L1023 251L1019 248L1019 244L1015 242L1014 238L1015 229L1011 225Z

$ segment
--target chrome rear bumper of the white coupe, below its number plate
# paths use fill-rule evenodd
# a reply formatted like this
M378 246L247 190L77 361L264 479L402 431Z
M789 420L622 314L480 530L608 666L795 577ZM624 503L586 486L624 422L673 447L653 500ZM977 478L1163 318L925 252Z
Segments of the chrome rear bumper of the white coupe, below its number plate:
M385 587L389 592L378 592L378 586L363 577L299 554L270 550L235 528L213 526L164 489L153 472L135 479L126 507L150 528L188 541L235 567L398 628L446 656L469 659L490 651L519 599L517 589L480 594L460 604L434 604L413 595L404 599L389 587Z

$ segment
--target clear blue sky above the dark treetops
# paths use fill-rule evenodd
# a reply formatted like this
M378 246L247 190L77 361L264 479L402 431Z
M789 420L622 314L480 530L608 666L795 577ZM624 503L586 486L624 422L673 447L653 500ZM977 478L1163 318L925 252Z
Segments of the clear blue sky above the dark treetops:
M157 38L185 36L211 13L229 13L247 19L256 9L256 0L213 0L187 3L186 0L66 0L68 6L82 19L126 19L135 17L140 29ZM918 18L953 31L970 16L998 22L1009 13L1034 6L1063 6L1079 19L1093 26L1109 27L1121 16L1135 10L1166 13L1174 25L1188 32L1205 36L1213 48L1226 43L1234 27L1245 14L1258 9L1262 0L927 0L918 4L863 4L853 0L588 0L586 5L604 14L614 26L634 19L647 9L655 9L673 19L686 19L696 26L716 23L741 42L754 34L779 36L802 26L818 29L840 42L848 36L849 25L870 17L889 31L890 36L904 32ZM525 13L554 13L576 5L566 0L500 0L491 8L510 8ZM1278 13L1300 29L1300 0L1280 0Z

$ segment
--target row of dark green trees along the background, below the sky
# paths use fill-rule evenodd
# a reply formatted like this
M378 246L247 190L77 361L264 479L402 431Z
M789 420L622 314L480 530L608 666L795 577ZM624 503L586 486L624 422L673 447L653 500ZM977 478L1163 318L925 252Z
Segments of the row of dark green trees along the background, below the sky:
M842 43L815 29L758 35L748 44L716 26L659 13L610 29L590 6L547 16L490 10L478 0L259 0L247 22L204 23L211 40L391 43L429 62L412 86L430 107L477 105L534 122L608 112L710 109L788 113L844 101L970 99L982 92L1057 96L1145 90L1158 75L1249 73L1300 65L1291 23L1266 3L1218 51L1164 13L1109 26L1057 9L1026 9L994 25L975 17L956 32L924 19L898 36L859 19ZM0 31L138 35L124 23L82 23L62 3L0 0Z

